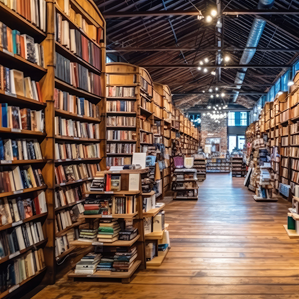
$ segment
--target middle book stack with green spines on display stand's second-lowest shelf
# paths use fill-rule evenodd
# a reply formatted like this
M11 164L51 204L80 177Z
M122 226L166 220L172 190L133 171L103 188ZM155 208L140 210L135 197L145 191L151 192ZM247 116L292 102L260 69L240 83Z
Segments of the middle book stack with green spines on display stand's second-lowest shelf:
M112 243L119 239L121 227L117 218L101 219L98 229L98 241L104 243Z

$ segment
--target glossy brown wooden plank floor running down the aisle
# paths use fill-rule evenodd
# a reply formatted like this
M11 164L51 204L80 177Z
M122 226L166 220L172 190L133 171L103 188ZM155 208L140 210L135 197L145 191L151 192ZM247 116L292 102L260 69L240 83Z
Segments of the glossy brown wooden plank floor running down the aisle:
M283 227L291 203L256 202L243 181L208 174L198 201L167 204L171 249L130 284L64 278L34 299L299 298L299 240Z

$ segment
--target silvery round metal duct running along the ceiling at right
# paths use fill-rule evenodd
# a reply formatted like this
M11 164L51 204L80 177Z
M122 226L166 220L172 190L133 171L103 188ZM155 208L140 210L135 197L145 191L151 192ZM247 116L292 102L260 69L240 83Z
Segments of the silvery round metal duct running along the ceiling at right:
M271 8L274 4L275 0L259 0L258 9L265 9L265 8ZM266 26L266 21L256 17L253 20L253 23L251 25L251 29L249 32L249 36L246 42L245 50L243 51L242 57L240 59L239 64L248 64L253 55L256 52L256 49L246 49L246 48L256 48L260 42L261 36L263 34L264 28ZM237 84L237 88L240 89L242 86L242 83L245 78L247 68L242 68L240 71L237 72L235 84ZM237 101L239 92L237 91L236 94L233 97L233 102Z

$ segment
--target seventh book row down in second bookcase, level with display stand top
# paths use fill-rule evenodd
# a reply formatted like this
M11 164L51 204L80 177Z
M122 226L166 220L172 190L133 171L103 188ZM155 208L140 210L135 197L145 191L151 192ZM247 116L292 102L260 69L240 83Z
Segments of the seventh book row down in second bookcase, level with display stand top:
M56 184L76 182L94 177L99 170L99 164L59 165L55 167Z

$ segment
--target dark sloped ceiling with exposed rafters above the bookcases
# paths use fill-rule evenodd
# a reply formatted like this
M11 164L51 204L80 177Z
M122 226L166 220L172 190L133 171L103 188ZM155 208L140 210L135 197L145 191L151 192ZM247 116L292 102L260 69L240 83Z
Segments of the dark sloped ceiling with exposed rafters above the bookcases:
M194 15L118 16L119 12L165 10L196 12L200 10L206 16L216 8L216 0L95 0L95 2L104 16L107 15L107 50L116 50L111 54L119 55L122 61L145 66L153 81L170 87L176 106L184 110L203 109L211 101L219 101L221 97L216 98L216 95L211 99L210 88L213 93L225 93L223 100L226 103L232 102L236 90L234 81L240 69L222 68L221 77L218 77L210 73L215 69L209 68L204 73L194 66L199 66L199 62L205 58L208 59L207 65L215 66L216 51L211 48L216 47L217 36L222 40L223 57L225 55L230 57L227 65L237 66L255 15L242 13L222 15L221 34L216 30L216 18L207 23L206 18L198 20ZM222 0L221 11L255 9L257 4L256 0ZM277 11L284 9L289 12L299 9L299 1L276 0L272 7L272 10ZM240 105L246 108L253 107L260 96L267 92L288 69L286 66L297 60L299 54L298 13L263 14L260 17L267 20L267 24L258 48L278 50L256 51L249 63L255 67L248 68L239 90L240 94L236 101L238 107ZM164 47L172 50L160 49ZM152 51L153 48L159 50ZM159 68L159 65L166 66ZM176 65L180 67L174 67Z

